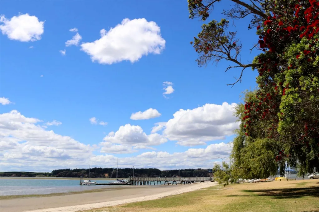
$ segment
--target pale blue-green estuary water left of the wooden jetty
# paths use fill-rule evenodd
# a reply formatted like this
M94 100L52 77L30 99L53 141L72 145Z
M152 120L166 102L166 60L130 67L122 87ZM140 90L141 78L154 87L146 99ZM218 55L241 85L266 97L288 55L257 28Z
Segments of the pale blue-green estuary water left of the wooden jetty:
M94 180L97 183L109 183L114 180ZM72 179L17 179L0 177L0 196L24 194L52 194L70 191L84 191L114 186L80 186L80 180Z

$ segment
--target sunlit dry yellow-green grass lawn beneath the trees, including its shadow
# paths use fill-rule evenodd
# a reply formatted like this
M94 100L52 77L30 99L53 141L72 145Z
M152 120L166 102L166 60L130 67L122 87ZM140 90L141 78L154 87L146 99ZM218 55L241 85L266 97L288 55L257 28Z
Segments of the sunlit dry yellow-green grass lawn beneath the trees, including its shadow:
M214 186L198 191L86 212L319 212L319 180Z

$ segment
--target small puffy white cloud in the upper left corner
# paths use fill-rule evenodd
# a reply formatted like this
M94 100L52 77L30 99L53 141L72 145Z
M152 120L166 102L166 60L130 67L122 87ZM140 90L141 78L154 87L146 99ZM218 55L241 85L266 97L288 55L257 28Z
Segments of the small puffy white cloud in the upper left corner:
M44 32L44 21L39 21L36 16L30 16L28 13L13 16L10 19L0 16L0 30L2 34L7 35L11 40L21 42L37 41L41 39Z

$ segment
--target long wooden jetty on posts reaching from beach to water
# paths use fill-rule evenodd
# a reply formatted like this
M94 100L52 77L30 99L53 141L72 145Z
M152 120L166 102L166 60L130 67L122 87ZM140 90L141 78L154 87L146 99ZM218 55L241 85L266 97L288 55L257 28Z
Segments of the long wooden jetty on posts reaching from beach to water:
M131 186L142 186L142 185L162 185L162 182L164 182L164 185L169 185L170 182L172 182L172 185L177 184L190 184L190 183L196 183L196 182L206 182L206 181L214 181L212 177L130 177L129 179L129 185Z

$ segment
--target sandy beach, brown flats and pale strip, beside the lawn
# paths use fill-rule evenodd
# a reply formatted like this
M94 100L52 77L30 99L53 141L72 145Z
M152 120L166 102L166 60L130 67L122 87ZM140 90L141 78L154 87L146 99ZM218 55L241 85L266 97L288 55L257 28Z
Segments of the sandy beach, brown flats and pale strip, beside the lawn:
M121 190L96 193L2 200L0 209L1 212L74 212L130 202L154 200L214 185L217 185L217 182L169 186L129 186Z

